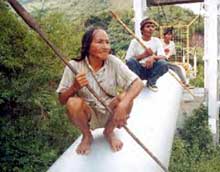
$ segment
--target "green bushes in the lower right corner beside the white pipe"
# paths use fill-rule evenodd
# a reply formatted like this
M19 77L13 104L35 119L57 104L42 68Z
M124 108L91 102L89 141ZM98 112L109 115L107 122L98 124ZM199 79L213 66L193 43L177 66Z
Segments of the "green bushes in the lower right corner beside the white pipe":
M212 144L207 108L201 106L186 120L175 138L169 171L217 172L219 155L219 147L215 149Z

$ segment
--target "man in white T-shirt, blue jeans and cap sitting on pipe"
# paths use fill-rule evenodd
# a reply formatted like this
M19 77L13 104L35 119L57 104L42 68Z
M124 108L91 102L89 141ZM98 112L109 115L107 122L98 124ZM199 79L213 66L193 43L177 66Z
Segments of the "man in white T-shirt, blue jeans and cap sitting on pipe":
M141 41L148 48L143 48L136 39L133 39L126 54L128 67L142 80L147 80L147 87L152 91L158 91L156 82L168 71L162 43L159 38L152 36L156 25L154 20L144 19L140 23Z

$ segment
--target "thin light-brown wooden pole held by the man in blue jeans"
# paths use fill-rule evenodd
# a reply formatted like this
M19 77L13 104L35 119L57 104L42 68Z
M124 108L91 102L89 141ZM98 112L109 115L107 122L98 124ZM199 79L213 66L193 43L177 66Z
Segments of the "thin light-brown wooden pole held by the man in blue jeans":
M147 46L144 45L144 43L134 34L133 31L131 31L131 29L129 29L129 27L118 17L117 14L115 14L113 11L110 11L110 13L112 14L112 16L124 27L124 29L129 33L131 34L131 36L136 39L138 41L138 43L144 48L144 49L147 49ZM177 82L186 90L188 91L188 93L190 95L193 96L193 98L195 98L195 95L190 91L189 88L187 88L186 86L184 86L184 84L173 74L169 71L169 73L171 74L171 76L173 76Z

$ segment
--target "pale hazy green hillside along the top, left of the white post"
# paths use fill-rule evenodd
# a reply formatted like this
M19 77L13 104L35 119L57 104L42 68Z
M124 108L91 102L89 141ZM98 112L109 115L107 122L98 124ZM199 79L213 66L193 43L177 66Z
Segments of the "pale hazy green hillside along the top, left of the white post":
M132 8L132 0L20 0L29 12L61 12L72 20L87 18L105 10L126 10Z

